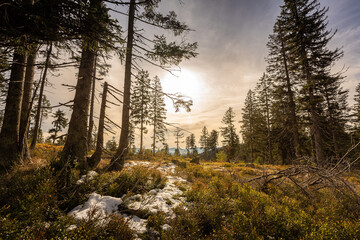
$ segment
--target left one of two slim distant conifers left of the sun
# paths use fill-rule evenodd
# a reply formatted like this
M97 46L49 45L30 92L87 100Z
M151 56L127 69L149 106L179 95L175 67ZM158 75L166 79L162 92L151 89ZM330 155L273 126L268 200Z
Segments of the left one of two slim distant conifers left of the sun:
M135 85L131 95L131 120L134 127L140 129L140 150L143 150L144 134L147 133L146 125L150 123L150 78L147 71L141 71L136 76Z

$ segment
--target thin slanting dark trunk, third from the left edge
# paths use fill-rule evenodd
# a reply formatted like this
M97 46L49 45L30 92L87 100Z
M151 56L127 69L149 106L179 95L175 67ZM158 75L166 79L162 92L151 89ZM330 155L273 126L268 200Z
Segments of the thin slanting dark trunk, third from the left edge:
M38 135L39 135L40 124L41 124L41 121L40 121L40 119L41 119L41 108L42 108L43 97L44 97L44 88L45 88L45 83L46 83L47 71L48 71L49 64L50 64L51 52L52 52L52 42L50 43L50 45L48 47L48 50L47 50L47 53L46 53L44 73L43 73L43 76L42 76L42 79L41 79L38 106L37 106L36 115L35 115L34 134L33 134L33 139L31 141L30 149L35 149L36 142L37 142Z

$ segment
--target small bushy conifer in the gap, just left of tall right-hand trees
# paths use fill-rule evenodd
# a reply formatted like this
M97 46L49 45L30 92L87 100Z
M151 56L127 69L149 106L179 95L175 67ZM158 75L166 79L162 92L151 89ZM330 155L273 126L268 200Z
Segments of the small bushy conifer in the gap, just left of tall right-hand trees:
M235 113L231 107L225 112L221 122L225 124L225 127L221 127L222 143L226 149L228 160L230 161L235 157L235 153L239 148L239 136L236 134L234 125Z

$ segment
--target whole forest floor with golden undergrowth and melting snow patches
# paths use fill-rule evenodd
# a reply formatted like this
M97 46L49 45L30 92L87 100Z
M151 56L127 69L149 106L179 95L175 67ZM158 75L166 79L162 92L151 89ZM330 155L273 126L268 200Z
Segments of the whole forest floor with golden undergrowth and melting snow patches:
M308 173L265 184L291 166L146 156L103 172L104 159L59 196L60 149L40 145L0 179L0 239L360 239L349 189L297 187ZM360 193L358 170L341 179Z

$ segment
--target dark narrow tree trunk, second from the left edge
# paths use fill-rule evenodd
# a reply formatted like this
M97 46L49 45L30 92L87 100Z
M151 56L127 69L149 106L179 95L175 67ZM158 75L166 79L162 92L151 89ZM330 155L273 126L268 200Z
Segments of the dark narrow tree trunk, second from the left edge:
M31 160L28 141L27 141L27 132L29 130L29 124L30 124L30 112L32 105L31 97L32 97L33 84L34 84L36 54L38 50L37 48L38 48L37 45L33 46L33 51L29 53L27 59L23 99L21 105L19 144L24 161Z

